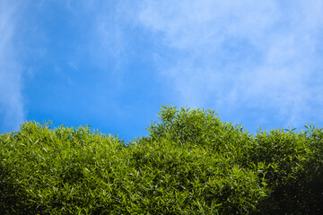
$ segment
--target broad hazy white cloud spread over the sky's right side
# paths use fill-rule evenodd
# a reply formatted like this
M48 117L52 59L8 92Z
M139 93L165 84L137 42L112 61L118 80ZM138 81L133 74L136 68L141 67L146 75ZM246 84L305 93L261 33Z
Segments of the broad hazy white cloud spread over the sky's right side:
M323 120L321 1L147 0L141 8L144 28L180 54L156 59L183 104L257 108L284 126Z

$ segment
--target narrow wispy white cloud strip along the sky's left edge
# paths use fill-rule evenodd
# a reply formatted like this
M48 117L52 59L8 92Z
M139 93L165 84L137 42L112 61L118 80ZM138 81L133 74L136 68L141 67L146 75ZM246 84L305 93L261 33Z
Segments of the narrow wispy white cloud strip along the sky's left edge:
M22 99L22 66L17 59L14 35L19 2L0 3L0 129L13 131L25 119Z

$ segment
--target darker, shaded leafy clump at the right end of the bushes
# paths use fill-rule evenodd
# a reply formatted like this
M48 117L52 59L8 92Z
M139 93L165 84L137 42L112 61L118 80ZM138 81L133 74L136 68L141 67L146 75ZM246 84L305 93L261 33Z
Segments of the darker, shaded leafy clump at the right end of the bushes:
M257 133L252 142L249 163L261 164L271 189L259 205L263 213L320 214L323 210L323 130L313 125L306 128L302 133L289 129Z

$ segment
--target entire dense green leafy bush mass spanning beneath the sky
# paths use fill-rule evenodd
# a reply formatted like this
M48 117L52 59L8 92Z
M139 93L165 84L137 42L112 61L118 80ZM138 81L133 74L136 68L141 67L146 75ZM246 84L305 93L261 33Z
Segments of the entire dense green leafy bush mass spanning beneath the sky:
M319 214L323 132L162 107L149 135L25 123L0 135L0 214Z

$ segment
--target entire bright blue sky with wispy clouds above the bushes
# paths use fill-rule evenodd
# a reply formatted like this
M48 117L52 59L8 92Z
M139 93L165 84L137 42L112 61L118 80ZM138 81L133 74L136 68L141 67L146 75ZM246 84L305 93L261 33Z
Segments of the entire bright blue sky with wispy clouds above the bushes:
M0 0L0 132L92 125L131 140L159 107L323 125L323 2Z

